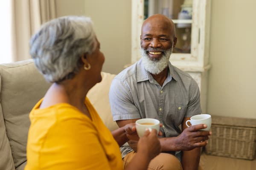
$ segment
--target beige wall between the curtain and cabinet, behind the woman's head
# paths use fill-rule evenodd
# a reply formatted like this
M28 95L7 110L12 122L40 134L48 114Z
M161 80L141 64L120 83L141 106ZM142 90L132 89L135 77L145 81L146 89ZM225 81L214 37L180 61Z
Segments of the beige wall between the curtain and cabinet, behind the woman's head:
M57 17L92 18L105 54L102 71L118 74L131 63L131 0L57 0L56 6Z

